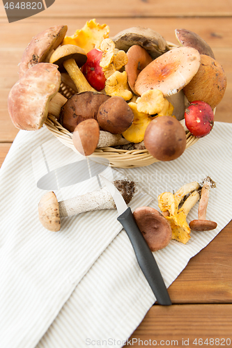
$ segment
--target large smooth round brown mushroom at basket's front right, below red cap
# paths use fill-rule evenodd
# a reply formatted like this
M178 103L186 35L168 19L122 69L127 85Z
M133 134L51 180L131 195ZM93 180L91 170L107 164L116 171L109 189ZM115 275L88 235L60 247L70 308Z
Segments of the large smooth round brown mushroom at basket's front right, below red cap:
M177 159L186 148L185 129L172 116L156 117L146 128L144 145L160 161Z

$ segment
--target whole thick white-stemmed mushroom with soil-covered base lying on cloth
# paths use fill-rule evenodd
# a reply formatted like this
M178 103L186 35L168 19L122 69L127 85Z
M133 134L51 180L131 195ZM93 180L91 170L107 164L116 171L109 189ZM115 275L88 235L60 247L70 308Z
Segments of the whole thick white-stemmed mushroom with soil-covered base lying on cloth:
M125 202L130 203L135 190L134 182L116 180L114 184L123 195ZM107 187L61 202L58 202L53 191L49 191L40 199L38 216L42 226L57 232L61 228L61 218L100 209L116 209L114 199Z

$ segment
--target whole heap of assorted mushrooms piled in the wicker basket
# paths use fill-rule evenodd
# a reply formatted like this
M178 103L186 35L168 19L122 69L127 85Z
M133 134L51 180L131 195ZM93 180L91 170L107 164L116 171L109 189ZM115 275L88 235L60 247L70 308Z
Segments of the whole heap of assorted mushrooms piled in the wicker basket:
M26 47L8 95L15 127L54 120L82 155L111 147L146 150L158 161L180 157L187 133L210 133L226 76L198 34L176 29L174 45L135 26L109 38L109 26L95 19L67 30L53 26Z

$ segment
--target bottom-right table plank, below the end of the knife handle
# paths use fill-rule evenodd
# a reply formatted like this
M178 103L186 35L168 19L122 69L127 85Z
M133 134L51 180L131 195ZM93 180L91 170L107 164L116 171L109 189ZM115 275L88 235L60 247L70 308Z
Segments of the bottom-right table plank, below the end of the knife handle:
M186 345L192 348L202 345L201 339L205 342L203 347L221 345L231 347L231 327L232 304L153 306L144 321L131 335L127 347L132 345L133 340L133 347L141 347L142 341L144 345L148 345L145 341L150 340L150 347L154 345L184 347ZM210 338L214 339L214 341L211 340L211 344ZM219 341L215 341L216 338L219 338ZM228 345L223 338L228 339ZM194 344L195 339L197 345Z

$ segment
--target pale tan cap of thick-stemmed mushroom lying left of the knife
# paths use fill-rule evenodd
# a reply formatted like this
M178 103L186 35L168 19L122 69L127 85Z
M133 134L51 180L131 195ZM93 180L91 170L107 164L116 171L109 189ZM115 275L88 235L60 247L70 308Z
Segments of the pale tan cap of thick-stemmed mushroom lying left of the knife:
M40 223L47 230L58 232L61 229L59 203L53 191L45 193L40 199L38 215Z

